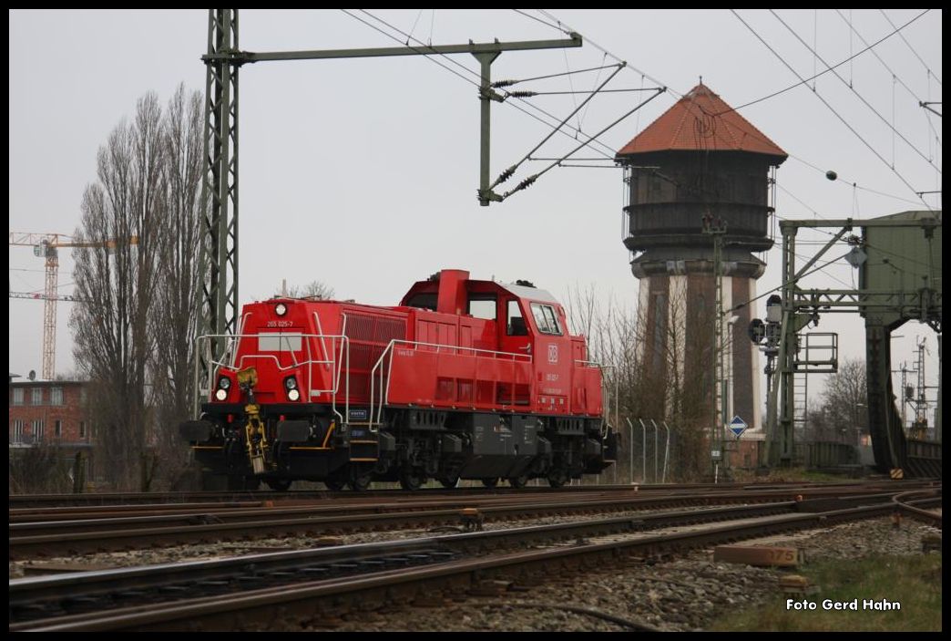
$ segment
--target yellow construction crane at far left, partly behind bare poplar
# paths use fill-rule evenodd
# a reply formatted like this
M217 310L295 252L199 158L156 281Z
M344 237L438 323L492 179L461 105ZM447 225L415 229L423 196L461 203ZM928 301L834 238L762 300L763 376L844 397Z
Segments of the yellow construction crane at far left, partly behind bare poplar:
M126 244L126 243L123 243ZM138 245L138 236L131 236L128 245ZM56 370L56 301L78 301L75 296L59 294L59 248L88 247L115 249L120 241L76 241L65 233L29 233L10 231L10 245L33 248L33 255L46 259L46 287L43 294L10 291L10 298L42 299L43 304L43 378L51 380Z

